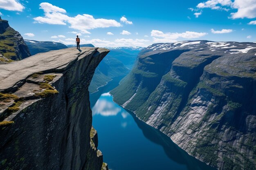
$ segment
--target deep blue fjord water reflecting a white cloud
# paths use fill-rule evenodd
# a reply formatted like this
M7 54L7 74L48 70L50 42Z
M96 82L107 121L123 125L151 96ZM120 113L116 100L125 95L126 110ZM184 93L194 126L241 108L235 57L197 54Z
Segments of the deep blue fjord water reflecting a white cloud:
M98 149L111 170L215 170L113 102L105 92L117 86L118 80L90 96L95 101L91 102L92 124L98 131Z

